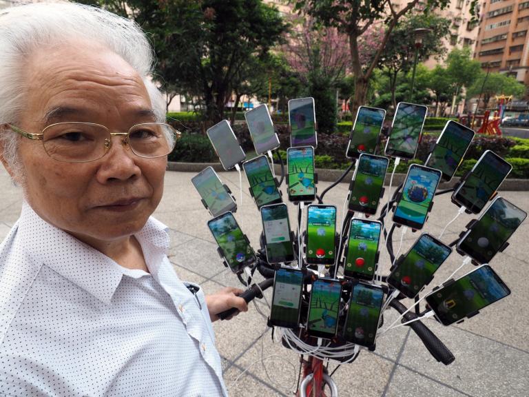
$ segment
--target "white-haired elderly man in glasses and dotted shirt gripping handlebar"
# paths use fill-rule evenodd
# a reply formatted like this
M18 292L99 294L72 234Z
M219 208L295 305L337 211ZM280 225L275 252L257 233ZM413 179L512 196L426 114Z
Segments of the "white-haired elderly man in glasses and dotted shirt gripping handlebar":
M0 396L222 396L204 297L169 263L175 132L132 21L72 3L0 12L0 156L25 203L0 246Z

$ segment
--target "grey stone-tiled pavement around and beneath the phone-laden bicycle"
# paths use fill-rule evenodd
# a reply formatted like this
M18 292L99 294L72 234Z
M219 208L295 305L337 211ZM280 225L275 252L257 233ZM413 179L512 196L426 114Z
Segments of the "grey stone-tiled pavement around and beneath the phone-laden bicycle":
M165 195L155 216L172 230L170 259L178 276L200 283L211 293L227 285L238 285L238 280L222 266L216 254L214 239L206 226L209 214L191 185L193 175L167 172ZM221 172L220 178L240 201L238 174ZM236 218L257 248L260 216L248 194L244 177L242 183L243 203ZM322 182L318 189L322 191L329 184ZM0 239L3 239L21 209L21 191L10 183L3 168L0 190ZM325 203L338 207L339 219L346 193L347 185L341 183L324 199ZM529 212L529 193L501 192L501 196ZM289 210L291 223L295 225L295 207L289 205ZM437 197L424 231L437 236L455 214L457 207L450 203L448 196ZM448 227L443 240L453 241L471 218L473 216L461 215ZM395 246L400 239L399 233L395 232ZM402 252L408 250L417 237L418 233L408 232ZM525 251L528 237L529 221L526 221L511 238L506 252L497 254L491 263L512 290L511 296L453 327L426 320L452 350L456 357L453 364L437 363L413 332L400 327L379 338L374 353L364 351L355 363L335 372L333 378L338 383L340 396L528 396L529 260ZM461 256L454 252L439 269L433 283L444 280L460 263ZM385 250L381 252L381 265L386 270L389 267ZM270 298L269 292L267 296ZM256 305L268 314L265 303ZM395 312L387 311L386 318L389 321L396 318ZM298 356L277 341L273 343L266 320L256 307L251 305L248 313L234 320L217 321L214 328L231 396L292 396L298 376ZM335 366L331 362L329 369ZM243 371L245 374L240 376Z

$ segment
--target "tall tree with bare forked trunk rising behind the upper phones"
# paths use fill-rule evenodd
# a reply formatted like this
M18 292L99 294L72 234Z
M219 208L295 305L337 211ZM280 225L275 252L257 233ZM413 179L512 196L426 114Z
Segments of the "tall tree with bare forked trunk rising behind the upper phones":
M427 0L424 11L444 8L448 0ZM333 26L346 34L349 40L351 70L355 75L355 95L351 111L366 101L369 80L377 67L382 52L397 22L408 12L419 6L419 0L408 0L400 10L396 10L391 0L295 0L295 8L315 17L324 26ZM384 37L369 63L360 61L359 39L375 23L386 23Z

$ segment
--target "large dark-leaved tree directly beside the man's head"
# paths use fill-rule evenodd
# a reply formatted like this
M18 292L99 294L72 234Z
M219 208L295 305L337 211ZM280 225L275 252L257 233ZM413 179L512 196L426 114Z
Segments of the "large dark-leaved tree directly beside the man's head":
M276 8L261 0L99 0L134 19L156 52L153 78L163 88L198 96L207 119L224 117L232 92L241 90L256 58L287 30Z

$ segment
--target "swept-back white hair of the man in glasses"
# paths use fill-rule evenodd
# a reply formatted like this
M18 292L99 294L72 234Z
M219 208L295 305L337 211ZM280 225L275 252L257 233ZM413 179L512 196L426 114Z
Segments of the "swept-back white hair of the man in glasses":
M137 23L101 8L63 1L0 10L0 141L3 157L16 175L21 172L19 136L6 124L17 125L24 112L23 68L38 46L72 38L101 44L129 63L145 83L157 121L165 122L165 101L150 78L154 52Z

